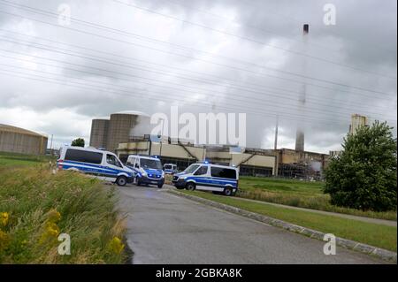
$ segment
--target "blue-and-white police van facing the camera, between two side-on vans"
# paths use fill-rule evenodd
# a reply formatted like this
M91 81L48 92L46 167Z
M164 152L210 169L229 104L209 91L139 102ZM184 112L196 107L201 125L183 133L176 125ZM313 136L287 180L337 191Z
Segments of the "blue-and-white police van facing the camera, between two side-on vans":
M126 166L135 171L134 183L138 186L153 184L161 188L165 184L165 171L156 156L129 155Z

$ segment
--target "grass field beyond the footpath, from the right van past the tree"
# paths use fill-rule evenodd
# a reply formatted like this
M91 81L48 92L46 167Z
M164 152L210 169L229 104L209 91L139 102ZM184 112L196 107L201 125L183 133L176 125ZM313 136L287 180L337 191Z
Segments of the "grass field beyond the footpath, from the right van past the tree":
M323 193L322 182L295 179L241 177L237 196L264 202L275 202L312 210L325 210L360 217L396 220L396 211L374 212L347 209L330 204L330 196Z

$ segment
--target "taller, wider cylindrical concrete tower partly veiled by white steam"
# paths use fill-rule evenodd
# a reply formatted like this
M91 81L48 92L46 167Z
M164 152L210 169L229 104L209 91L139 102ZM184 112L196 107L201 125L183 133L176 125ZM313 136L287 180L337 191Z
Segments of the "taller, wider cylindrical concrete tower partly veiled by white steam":
M142 116L145 115L138 111L120 111L111 114L106 149L116 152L119 143L128 142L133 135L134 127L140 124Z

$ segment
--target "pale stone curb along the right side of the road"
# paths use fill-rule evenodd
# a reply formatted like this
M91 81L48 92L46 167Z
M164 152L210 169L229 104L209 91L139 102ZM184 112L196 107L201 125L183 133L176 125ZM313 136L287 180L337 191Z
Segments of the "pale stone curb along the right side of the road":
M206 205L209 205L209 206L221 209L221 210L226 210L226 211L232 212L234 214L237 214L237 215L240 215L243 217L249 217L256 221L263 222L267 225L272 225L272 226L276 226L279 228L283 228L290 232L296 232L296 233L302 234L302 235L310 237L310 238L323 240L324 236L325 236L324 232L318 232L316 230L302 227L300 225L293 225L293 224L290 224L283 220L279 220L279 219L276 219L273 217L263 216L263 215L260 215L260 214L257 214L255 212L251 212L248 210L241 210L240 208L236 208L236 207L226 205L226 204L220 203L220 202L214 202L211 200L203 199L201 197L197 197L192 194L184 194L184 193L181 193L176 190L169 190L168 193L180 195L184 198L187 198L187 199L195 201L195 202L201 202L203 204L206 204ZM370 245L356 242L354 240L347 240L347 239L340 238L340 237L336 237L336 244L343 248L348 248L348 249L352 249L352 250L355 250L355 251L358 251L358 252L361 252L361 253L364 253L367 255L373 255L373 256L379 257L382 260L387 261L387 262L394 262L394 263L397 262L397 254L392 251L389 251L387 249L376 248L376 247L373 247Z

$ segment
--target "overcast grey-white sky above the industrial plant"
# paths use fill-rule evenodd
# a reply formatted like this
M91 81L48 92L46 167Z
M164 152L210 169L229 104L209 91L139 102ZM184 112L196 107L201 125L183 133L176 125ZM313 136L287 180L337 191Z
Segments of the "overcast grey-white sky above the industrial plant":
M334 26L323 21L327 3ZM65 4L70 23L58 16ZM306 150L341 149L352 113L396 126L396 8L395 0L0 0L0 123L54 134L58 147L88 141L92 118L168 114L173 104L181 113L247 113L248 147L273 148L278 115L279 148L294 149L302 126Z

